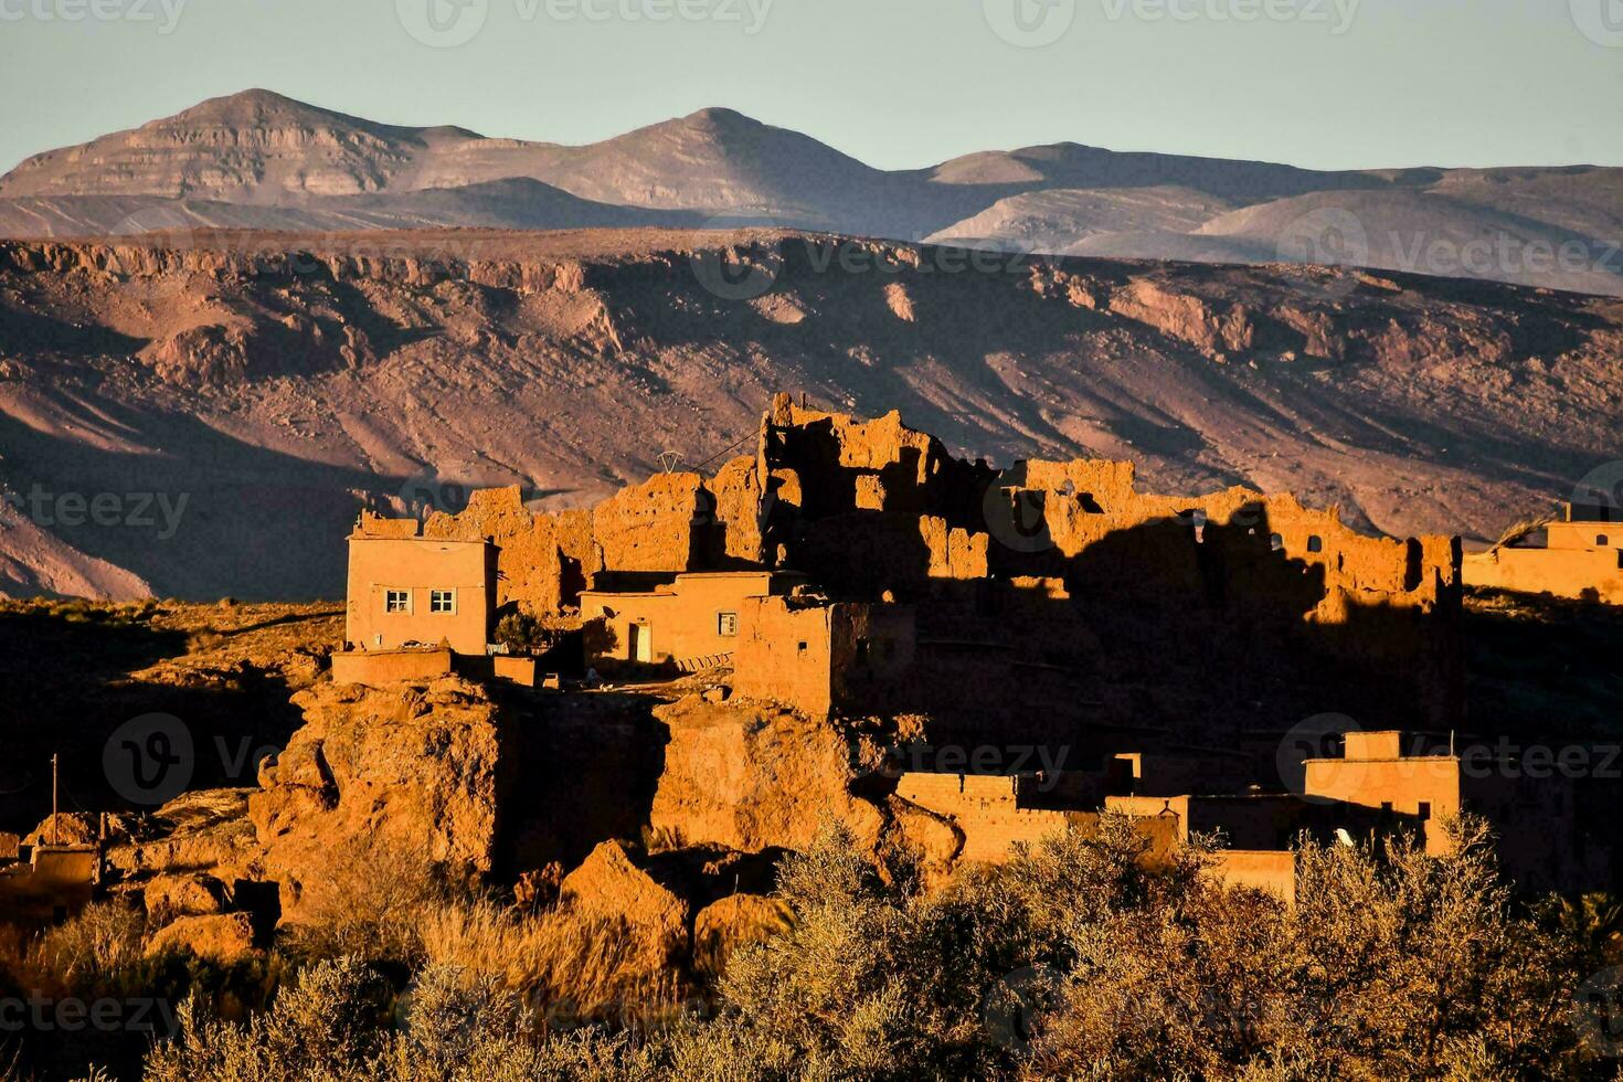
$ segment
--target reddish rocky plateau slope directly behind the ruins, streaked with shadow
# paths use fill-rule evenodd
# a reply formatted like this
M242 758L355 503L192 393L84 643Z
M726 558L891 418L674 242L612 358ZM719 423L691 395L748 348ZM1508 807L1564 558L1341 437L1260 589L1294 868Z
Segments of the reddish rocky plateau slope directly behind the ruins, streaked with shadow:
M360 508L581 506L769 396L1487 540L1623 444L1623 302L829 235L0 243L0 589L334 597Z

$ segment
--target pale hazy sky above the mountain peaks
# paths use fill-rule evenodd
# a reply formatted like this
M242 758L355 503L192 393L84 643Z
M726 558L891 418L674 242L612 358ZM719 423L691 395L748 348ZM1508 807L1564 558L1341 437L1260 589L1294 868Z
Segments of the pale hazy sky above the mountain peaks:
M1623 0L0 0L0 169L250 86L560 143L730 105L881 167L1623 165Z

